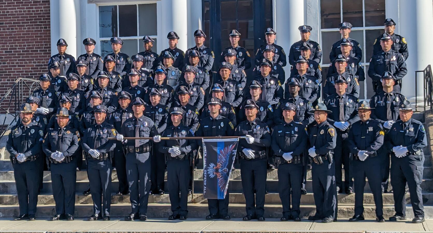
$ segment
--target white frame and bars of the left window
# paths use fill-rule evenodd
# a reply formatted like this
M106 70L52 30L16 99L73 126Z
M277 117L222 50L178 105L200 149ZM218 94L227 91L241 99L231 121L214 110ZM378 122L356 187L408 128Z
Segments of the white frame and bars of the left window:
M139 20L139 8L138 8L138 5L141 5L141 4L152 4L152 3L155 3L155 4L157 4L156 3L157 1L156 0L154 0L154 1L151 1L151 0L146 0L146 1L142 1L142 2L136 2L136 1L134 1L134 2L122 2L122 4L116 4L116 2L111 2L111 3L98 3L97 5L96 5L96 28L97 28L97 41L99 42L98 44L97 44L97 53L98 54L101 54L101 46L100 46L100 44L101 44L101 41L110 41L110 39L111 39L111 37L100 37L100 28L99 28L99 6L117 6L116 7L116 9L117 9L117 37L120 37L120 38L122 38L122 40L130 40L130 39L138 39L139 40L139 42L137 43L137 54L139 53L139 51L140 51L140 47L141 46L143 46L142 44L140 44L140 40L142 40L142 38L144 37L144 36L146 36L146 35L143 35L143 36L127 36L127 37L121 37L121 36L119 36L119 6L123 6L123 5L136 5L136 9L137 9L137 34L140 34L140 20ZM158 8L158 6L157 6L157 8ZM158 12L157 12L157 14L158 14ZM143 20L143 22L144 22L144 20ZM157 24L158 24L158 18L157 18L157 22L156 22ZM158 25L157 25L157 28L158 28ZM158 29L157 29L157 33L158 33ZM152 39L157 39L157 37L158 37L158 35L147 35L147 36L149 36L150 38L152 38ZM158 42L158 41L157 41ZM133 54L133 55L135 55L135 54ZM130 55L130 56L132 56L132 55Z

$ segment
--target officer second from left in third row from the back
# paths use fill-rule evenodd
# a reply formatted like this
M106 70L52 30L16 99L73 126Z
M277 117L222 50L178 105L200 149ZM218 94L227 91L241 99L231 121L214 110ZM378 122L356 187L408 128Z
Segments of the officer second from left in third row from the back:
M71 113L80 115L86 110L86 97L85 93L78 89L78 84L80 83L80 76L76 73L69 73L68 75L68 89L63 91L61 95L68 96L71 102L71 108L69 111Z

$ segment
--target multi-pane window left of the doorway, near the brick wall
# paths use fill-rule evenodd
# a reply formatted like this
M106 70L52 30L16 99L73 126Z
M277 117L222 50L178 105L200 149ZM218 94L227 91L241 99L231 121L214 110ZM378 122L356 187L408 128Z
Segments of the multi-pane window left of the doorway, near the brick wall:
M141 20L140 20L141 19ZM112 53L110 38L123 40L121 51L129 56L144 51L142 38L154 39L152 50L156 51L156 3L134 5L99 6L100 55Z

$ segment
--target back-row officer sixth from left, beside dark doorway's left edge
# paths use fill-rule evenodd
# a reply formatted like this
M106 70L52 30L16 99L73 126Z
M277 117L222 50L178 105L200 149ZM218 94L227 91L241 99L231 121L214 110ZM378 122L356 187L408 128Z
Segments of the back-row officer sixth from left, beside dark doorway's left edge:
M193 65L189 63L189 56L192 50L197 50L198 54L200 55L198 66L203 67L207 71L210 71L212 69L213 60L215 59L215 54L213 54L213 51L210 48L204 46L205 40L206 40L206 34L204 34L202 30L198 29L194 31L195 46L189 48L185 52L185 58L184 58L185 65Z

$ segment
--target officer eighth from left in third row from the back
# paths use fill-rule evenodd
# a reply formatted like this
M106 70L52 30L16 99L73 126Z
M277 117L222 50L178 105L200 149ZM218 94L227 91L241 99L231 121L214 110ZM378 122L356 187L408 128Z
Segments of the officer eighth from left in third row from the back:
M271 105L275 105L283 99L284 93L280 80L271 76L271 66L271 61L263 58L262 63L260 63L260 75L255 76L253 80L262 85L262 95L260 98ZM251 98L249 90L245 91L245 96L246 98Z

